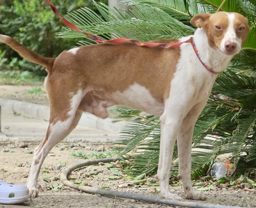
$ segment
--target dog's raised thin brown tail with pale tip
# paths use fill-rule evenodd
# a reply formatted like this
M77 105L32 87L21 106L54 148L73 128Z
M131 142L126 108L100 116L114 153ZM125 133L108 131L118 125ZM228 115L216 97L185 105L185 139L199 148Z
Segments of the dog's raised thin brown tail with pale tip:
M22 56L22 58L45 67L47 72L51 71L55 58L46 58L44 56L40 56L36 52L29 50L27 47L17 42L17 40L14 40L10 36L0 35L0 42L3 42L4 44L12 47L12 49L17 51L20 56Z

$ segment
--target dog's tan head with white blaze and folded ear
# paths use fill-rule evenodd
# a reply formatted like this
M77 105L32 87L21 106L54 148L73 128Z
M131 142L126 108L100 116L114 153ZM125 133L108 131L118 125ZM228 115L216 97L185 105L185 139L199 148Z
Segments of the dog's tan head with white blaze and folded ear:
M241 50L250 31L248 19L239 13L217 12L195 15L191 24L204 28L210 47L234 55Z

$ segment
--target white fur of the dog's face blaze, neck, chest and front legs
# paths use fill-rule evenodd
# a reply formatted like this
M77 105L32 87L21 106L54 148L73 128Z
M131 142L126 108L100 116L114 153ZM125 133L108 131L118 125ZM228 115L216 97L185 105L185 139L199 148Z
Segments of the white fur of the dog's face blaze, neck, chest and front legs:
M229 26L225 41L236 41L241 49L241 41L237 41L234 31L234 15L229 15ZM180 41L187 40L188 37ZM203 28L198 28L194 35L195 45L204 63L214 68L215 72L222 72L230 62L232 56L213 49L207 44L207 35ZM190 44L180 46L180 59L177 71L172 79L170 97L165 101L164 113L161 115L161 144L157 177L160 180L161 196L164 198L180 199L169 191L169 174L175 141L179 149L179 179L182 181L186 198L205 199L199 191L191 185L191 143L193 127L198 115L204 108L211 93L216 74L205 70L196 57Z

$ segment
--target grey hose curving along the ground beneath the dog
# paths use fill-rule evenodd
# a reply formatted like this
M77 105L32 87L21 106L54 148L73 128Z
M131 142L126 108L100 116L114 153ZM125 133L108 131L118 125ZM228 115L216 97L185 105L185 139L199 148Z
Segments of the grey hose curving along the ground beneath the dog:
M71 166L68 166L61 172L60 180L65 184L66 186L69 186L70 188L77 189L79 191L83 191L86 193L91 194L98 194L102 196L114 196L114 197L120 197L120 198L129 198L133 200L148 202L148 203L156 203L156 204L164 204L164 205L172 205L172 206L179 206L179 207L196 207L196 208L241 208L241 207L233 207L233 206L225 206L225 205L216 205L216 204L204 204L204 203L198 203L198 202L181 202L178 200L167 200L164 198L157 198L152 196L145 196L145 195L139 195L134 193L126 193L121 191L111 191L106 189L100 189L100 188L93 188L91 186L84 186L79 184L74 184L73 182L70 182L68 180L68 175L79 168L84 168L85 166L90 166L92 164L98 164L98 163L111 163L115 161L115 157L109 157L104 159L93 159L93 160L85 160L82 163L73 164Z

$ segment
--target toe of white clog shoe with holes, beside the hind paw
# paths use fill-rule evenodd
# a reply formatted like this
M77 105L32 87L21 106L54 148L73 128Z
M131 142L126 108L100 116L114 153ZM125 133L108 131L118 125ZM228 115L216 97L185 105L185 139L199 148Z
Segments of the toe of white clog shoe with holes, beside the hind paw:
M0 204L20 204L28 199L29 191L26 186L8 184L0 180Z

